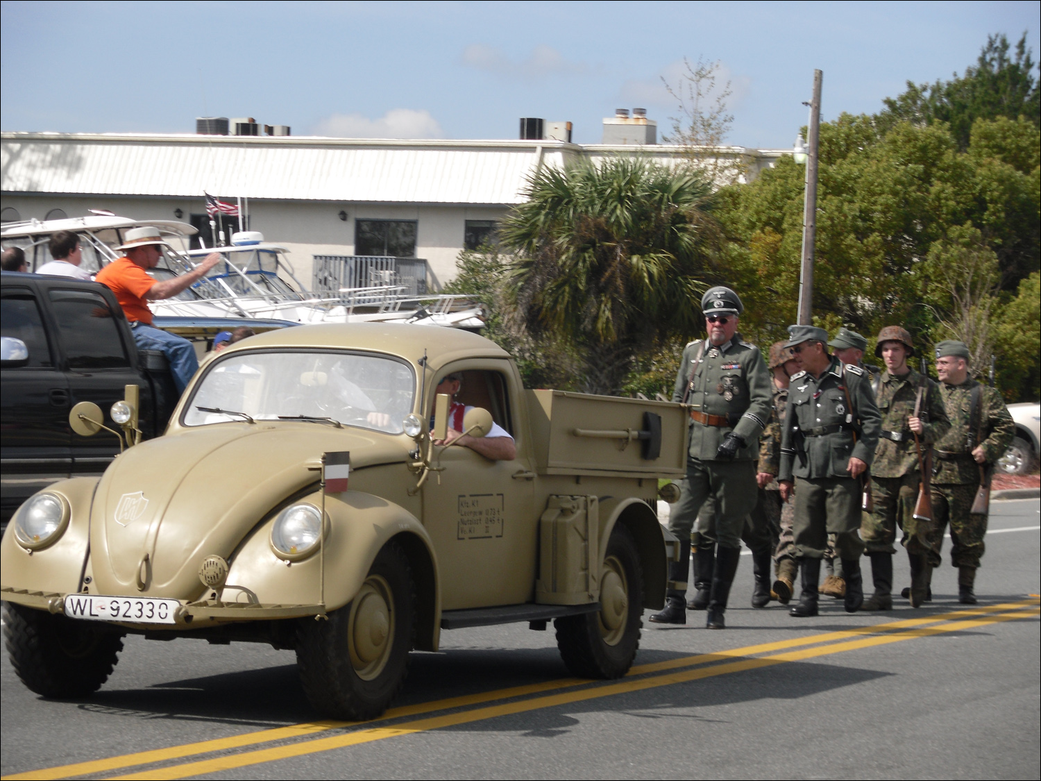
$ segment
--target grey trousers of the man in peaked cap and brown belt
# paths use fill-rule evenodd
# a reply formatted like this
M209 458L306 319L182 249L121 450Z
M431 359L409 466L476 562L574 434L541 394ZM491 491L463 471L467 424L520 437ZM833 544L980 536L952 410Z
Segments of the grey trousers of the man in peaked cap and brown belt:
M668 530L680 539L689 536L695 548L709 543L740 548L756 498L755 461L691 459L687 461L687 478L680 483L680 499L668 513ZM705 527L695 528L699 511L709 501L712 509Z

